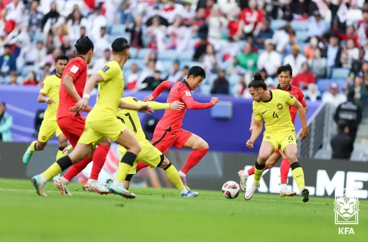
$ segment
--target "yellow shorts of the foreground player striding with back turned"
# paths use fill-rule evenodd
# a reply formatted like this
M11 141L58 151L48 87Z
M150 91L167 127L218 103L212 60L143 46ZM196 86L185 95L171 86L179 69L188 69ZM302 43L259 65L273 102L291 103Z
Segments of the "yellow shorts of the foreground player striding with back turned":
M86 145L91 144L95 147L104 137L115 142L126 128L126 125L115 116L110 117L110 115L101 115L99 119L95 119L93 116L87 116L84 131L78 143Z

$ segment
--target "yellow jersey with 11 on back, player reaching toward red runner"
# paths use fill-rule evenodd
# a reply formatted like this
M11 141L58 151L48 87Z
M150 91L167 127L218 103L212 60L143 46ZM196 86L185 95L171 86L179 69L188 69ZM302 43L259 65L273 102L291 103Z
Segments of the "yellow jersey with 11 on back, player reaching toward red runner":
M148 104L153 110L168 109L170 106L169 103L158 103L154 101L143 102L135 97L123 97L122 100L136 106ZM118 108L116 118L122 121L130 129L141 146L149 144L143 132L137 111Z

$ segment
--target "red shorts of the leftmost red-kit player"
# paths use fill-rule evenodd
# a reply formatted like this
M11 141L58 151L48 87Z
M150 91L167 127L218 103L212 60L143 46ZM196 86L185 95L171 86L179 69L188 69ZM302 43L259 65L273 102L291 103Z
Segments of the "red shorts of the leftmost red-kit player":
M85 117L82 115L65 116L60 118L57 124L70 144L75 148L84 131Z

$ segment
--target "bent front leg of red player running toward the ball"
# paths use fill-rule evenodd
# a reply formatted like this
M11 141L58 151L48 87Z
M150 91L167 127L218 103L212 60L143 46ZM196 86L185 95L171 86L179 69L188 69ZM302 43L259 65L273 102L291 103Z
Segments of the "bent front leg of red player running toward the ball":
M178 149L189 148L192 149L192 153L189 154L183 167L179 171L180 179L183 181L184 186L188 189L186 174L192 169L208 152L208 144L200 136L182 129L178 134L177 140L174 146Z

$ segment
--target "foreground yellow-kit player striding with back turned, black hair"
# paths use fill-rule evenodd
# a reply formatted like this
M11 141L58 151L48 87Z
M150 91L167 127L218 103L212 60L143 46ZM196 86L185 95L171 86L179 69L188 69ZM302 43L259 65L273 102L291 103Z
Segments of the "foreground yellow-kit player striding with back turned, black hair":
M32 183L40 196L45 196L45 183L51 177L61 173L73 163L82 161L104 137L107 137L127 150L119 163L117 178L110 189L113 193L125 198L135 198L135 194L124 188L123 180L131 169L141 147L131 131L116 118L116 111L118 108L123 108L150 114L153 110L147 104L136 106L121 100L124 89L123 66L129 57L130 46L125 38L118 38L114 40L111 47L113 60L87 80L83 98L74 108L70 109L70 111L77 113L84 110L88 105L93 87L99 83L99 98L86 118L84 131L76 147L69 155L59 159L42 174L32 178Z

